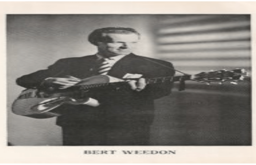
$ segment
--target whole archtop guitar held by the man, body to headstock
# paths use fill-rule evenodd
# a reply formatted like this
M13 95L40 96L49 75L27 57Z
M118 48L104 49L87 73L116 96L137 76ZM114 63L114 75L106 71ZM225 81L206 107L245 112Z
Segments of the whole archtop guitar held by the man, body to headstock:
M244 76L248 76L244 69L217 70L212 72L201 72L195 75L170 76L146 79L147 84L163 82L184 82L193 80L197 82L220 82L229 81L237 84ZM72 98L89 98L89 92L94 89L101 89L111 86L112 88L127 88L127 80L122 79L117 82L110 82L107 75L97 75L82 79L76 85L63 90L42 90L26 89L21 92L12 105L13 113L32 118L50 118L63 115L57 111L57 107L68 104Z

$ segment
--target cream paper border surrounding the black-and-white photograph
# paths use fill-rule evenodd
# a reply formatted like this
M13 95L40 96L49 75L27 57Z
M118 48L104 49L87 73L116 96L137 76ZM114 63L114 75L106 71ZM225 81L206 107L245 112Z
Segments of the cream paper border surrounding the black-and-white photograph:
M5 14L251 14L255 2L0 2L2 74L5 77ZM252 41L253 43L253 41ZM254 54L254 49L252 49ZM253 58L253 55L252 55ZM254 62L253 62L254 63ZM254 80L253 80L254 81ZM5 81L1 93L6 96ZM254 88L253 88L254 90ZM5 146L6 103L2 99L1 163L255 163L255 146ZM252 101L253 102L253 101ZM253 121L255 113L253 114ZM255 128L255 122L253 123ZM253 132L253 137L255 131ZM255 142L255 140L254 140ZM254 143L253 143L254 144ZM84 155L83 150L176 150L176 155ZM120 153L120 152L119 152Z

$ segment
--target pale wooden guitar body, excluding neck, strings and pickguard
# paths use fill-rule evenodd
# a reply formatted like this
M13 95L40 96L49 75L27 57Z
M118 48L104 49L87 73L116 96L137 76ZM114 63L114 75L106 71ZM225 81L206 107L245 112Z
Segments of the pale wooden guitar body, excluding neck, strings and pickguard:
M110 77L106 75L92 76L80 81L77 85L92 85L110 82ZM60 92L57 90L56 92ZM12 112L17 115L38 119L51 118L63 115L60 107L70 101L69 96L61 96L52 92L48 95L38 89L26 89L12 104Z

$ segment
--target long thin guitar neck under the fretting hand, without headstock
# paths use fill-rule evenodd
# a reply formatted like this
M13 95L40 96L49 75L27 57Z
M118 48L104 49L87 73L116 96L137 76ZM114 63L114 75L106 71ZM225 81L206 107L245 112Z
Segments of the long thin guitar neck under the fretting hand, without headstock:
M186 81L186 80L190 80L190 78L191 78L191 75L156 77L156 78L146 79L146 84ZM126 80L138 80L138 78L136 78L136 79L126 79ZM121 82L109 82L109 83L100 83L100 84L91 84L91 85L79 85L79 86L80 86L80 89L83 90L83 89L91 89L91 88L98 88L98 87L104 87L104 86L122 85L122 84L126 84L126 83L127 83L126 81L121 81Z

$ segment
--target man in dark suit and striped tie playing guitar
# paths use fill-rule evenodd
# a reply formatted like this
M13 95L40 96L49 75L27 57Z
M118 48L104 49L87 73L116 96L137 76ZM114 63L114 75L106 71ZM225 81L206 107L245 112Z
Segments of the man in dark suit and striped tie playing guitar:
M133 54L140 34L132 28L108 27L96 29L89 42L98 47L95 55L64 58L45 70L22 76L17 84L25 88L55 86L66 89L95 75L127 81L129 88L95 90L88 99L72 99L61 108L58 117L63 130L63 145L114 146L150 145L150 125L154 117L154 99L170 93L171 82L146 84L145 78L173 76L172 64ZM69 75L68 78L63 76Z

